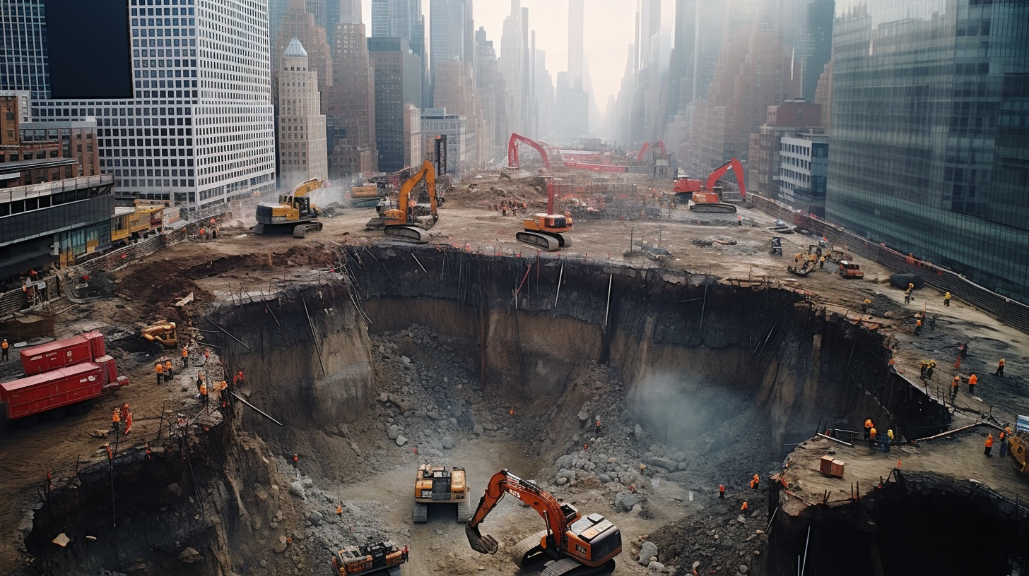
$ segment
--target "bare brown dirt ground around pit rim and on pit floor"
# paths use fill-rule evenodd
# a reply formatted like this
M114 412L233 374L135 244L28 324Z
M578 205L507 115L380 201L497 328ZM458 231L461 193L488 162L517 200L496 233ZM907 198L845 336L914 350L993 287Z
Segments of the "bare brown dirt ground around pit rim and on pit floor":
M512 176L516 183L519 178L533 179L529 172ZM431 229L432 243L487 254L535 257L534 248L514 241L514 232L522 227L522 214L503 216L490 210L489 205L501 196L518 197L530 204L529 212L541 211L545 206L543 192L531 185L517 187L511 180L495 172L470 182L476 184L474 190L467 185L454 190L440 210L438 223ZM642 191L645 187L668 186L667 182L641 180L640 196L646 193ZM516 187L517 194L510 191ZM636 201L642 204L644 199ZM248 229L254 222L244 216L226 222L217 240L192 238L170 246L113 273L115 295L112 297L61 307L56 335L65 337L87 329L107 333L133 332L158 318L184 322L187 318L173 303L190 292L197 301L189 305L198 308L215 301L232 302L244 294L274 293L292 283L311 282L328 274L334 261L331 249L339 245L395 242L386 240L382 231L364 231L364 224L375 216L371 209L342 210L334 214L322 219L322 231L306 239L254 236ZM741 207L738 213L741 224L737 223L736 214L698 214L683 206L662 208L660 216L653 214L651 211L644 219L638 215L634 219L625 214L605 217L600 213L576 219L571 235L574 244L565 255L638 267L683 268L721 277L722 282L767 279L773 285L809 291L827 311L846 314L854 323L878 325L879 329L893 334L897 370L913 385L924 387L927 384L931 390L938 388L943 391L941 397L949 389L954 371L949 368L957 357L957 346L967 343L969 354L960 372L965 375L978 373L980 385L975 396L969 396L967 387L962 385L957 398L961 409L955 415L954 427L974 422L980 412L992 412L1007 422L1013 422L1016 415L1029 413L1029 335L963 304L960 294L955 294L952 305L945 308L942 294L929 289L919 290L915 292L915 300L906 304L903 292L888 284L891 272L860 259L858 262L865 275L863 280L844 280L835 274L835 265L830 263L806 278L793 277L786 272L787 264L793 262L793 254L806 252L808 246L817 244L819 239L802 233L773 232L770 227L775 225L774 219L750 209L749 205ZM773 236L783 238L784 256L770 255L769 244ZM724 244L714 242L700 246L694 242L707 240L721 240ZM663 262L647 259L639 253L641 241L660 243L671 252L671 257ZM864 298L873 301L868 315L859 312ZM913 317L920 311L938 315L938 318L934 329L926 329L916 336ZM25 526L26 511L38 501L36 489L47 471L55 477L67 477L84 462L105 458L103 444L107 441L106 431L110 428L113 406L131 403L137 415L136 436L127 439L137 442L153 436L164 410L200 409L190 383L197 370L205 367L192 365L177 374L173 385L157 387L152 357L146 356L150 352L152 349L142 344L138 349L123 351L121 360L133 385L105 398L88 413L44 422L31 429L8 425L0 432L0 459L5 463L4 473L0 474L0 494L7 495L0 499L0 527L3 530L0 573L11 574L20 568L21 529ZM922 383L918 377L918 365L928 358L935 359L938 367L933 382ZM1003 379L990 375L1000 358L1006 359ZM196 356L193 362L198 362ZM5 380L16 377L15 363L0 368L0 375ZM859 424L854 423L854 426ZM898 465L897 461L902 462L903 469L933 470L959 479L974 478L1005 496L1029 494L1029 479L1017 476L1007 463L996 456L999 446L994 447L993 459L984 457L984 436L985 429L977 428L953 438L896 446L889 455L868 451L860 441L854 447L847 447L828 440L810 440L791 456L792 464L787 474L802 488L803 494L812 496L811 501L820 500L823 490L830 490L833 499L843 498L845 495L841 491L846 492L851 480L860 481L862 488L867 485L871 490L881 476L887 476ZM477 501L485 480L500 468L535 477L553 465L526 456L526 446L518 438L516 434L501 431L490 436L468 434L458 442L449 460L469 467L473 501ZM365 454L381 446L378 436L374 440L356 438L352 441L366 451ZM846 461L844 480L826 479L817 473L818 458L829 448L837 452L837 458ZM365 479L349 479L343 481L342 487L345 499L357 508L366 502L385 506L388 513L380 519L388 527L390 535L418 550L418 553L413 552L412 562L403 573L421 575L441 569L453 574L516 573L514 566L502 554L483 556L472 552L463 527L448 515L453 512L431 510L427 526L411 525L410 491L416 458L400 452L392 454L379 470L369 469L370 473L363 476ZM326 491L336 490L340 481L333 477L315 478L315 483ZM732 482L742 487L745 479L734 478ZM583 511L610 506L609 495L600 488L566 487L560 496L573 500ZM628 557L629 553L638 550L634 543L639 538L668 521L710 506L728 505L709 497L710 493L703 500L695 500L693 493L675 482L659 482L650 497L662 502L651 507L658 510L657 513L617 514L614 519L623 531L628 553L619 557L616 574L646 573L644 567L632 562L635 557ZM508 517L522 519L514 523L508 521ZM516 525L518 528L510 528ZM518 506L517 502L505 502L498 513L491 516L490 526L508 527L496 532L504 532L503 539L499 534L498 539L510 543L510 540L541 529L542 523L532 510Z

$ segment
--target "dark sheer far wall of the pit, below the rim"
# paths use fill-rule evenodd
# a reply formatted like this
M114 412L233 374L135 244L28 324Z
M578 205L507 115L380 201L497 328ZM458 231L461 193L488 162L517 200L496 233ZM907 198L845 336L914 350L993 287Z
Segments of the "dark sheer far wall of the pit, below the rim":
M938 431L948 421L943 406L889 369L883 335L827 316L794 291L549 254L394 247L349 249L348 258L371 330L417 323L462 338L484 389L514 405L557 400L573 368L595 361L619 372L634 411L668 394L725 397L713 390L756 402L776 454L819 423L856 427L871 416Z

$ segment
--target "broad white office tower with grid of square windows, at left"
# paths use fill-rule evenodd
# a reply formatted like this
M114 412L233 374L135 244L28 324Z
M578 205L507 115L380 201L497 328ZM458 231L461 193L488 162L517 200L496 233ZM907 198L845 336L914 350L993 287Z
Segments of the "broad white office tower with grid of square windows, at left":
M100 9L86 2L72 6L47 14L47 29L93 21L90 12ZM55 85L68 88L62 88L66 97L61 100L34 102L33 118L95 117L101 170L114 176L120 194L169 201L203 214L211 205L274 188L268 1L179 0L178 5L158 6L126 0L125 8L118 8L126 12L123 22L111 20L110 31L94 32L125 34L125 51L112 49L104 62L118 75L117 63L123 59L128 64L126 78L116 78L128 94L84 96L115 87L68 82L54 68L55 50L61 48L55 42L79 51L91 46L77 40L68 45L66 35L51 36L51 96ZM225 34L225 29L237 33ZM6 28L3 34L8 34ZM76 87L83 97L67 95Z

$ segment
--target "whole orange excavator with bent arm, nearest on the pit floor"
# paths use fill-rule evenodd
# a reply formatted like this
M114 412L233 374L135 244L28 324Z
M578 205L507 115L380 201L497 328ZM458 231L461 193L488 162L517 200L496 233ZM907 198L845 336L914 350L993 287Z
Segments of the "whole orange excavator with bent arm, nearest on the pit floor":
M611 520L596 513L583 516L571 504L559 502L536 483L507 469L490 478L478 507L465 525L468 544L473 550L497 553L496 538L483 536L478 527L504 494L511 494L536 510L546 523L546 530L522 540L511 549L520 569L553 559L555 562L543 570L544 576L588 576L614 570L614 556L622 552L622 533Z

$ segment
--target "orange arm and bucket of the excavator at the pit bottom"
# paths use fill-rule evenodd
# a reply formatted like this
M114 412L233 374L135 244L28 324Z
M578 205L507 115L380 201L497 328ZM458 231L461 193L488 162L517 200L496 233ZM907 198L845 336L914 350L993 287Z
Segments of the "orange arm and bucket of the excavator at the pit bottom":
M503 469L490 478L486 485L486 493L478 501L478 507L471 515L471 519L465 525L464 531L468 536L468 544L471 549L484 554L497 553L497 539L483 534L478 526L483 524L486 516L503 500L505 494L511 494L523 503L536 510L546 523L547 532L554 536L557 542L564 538L565 531L570 523L578 519L578 511L568 506L568 511L562 507L561 503L548 492L539 488L533 482L523 480L511 474L507 469Z

